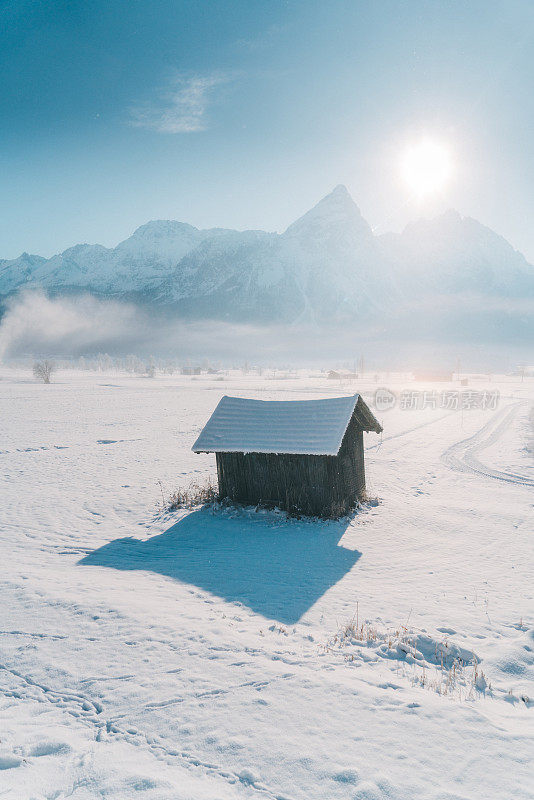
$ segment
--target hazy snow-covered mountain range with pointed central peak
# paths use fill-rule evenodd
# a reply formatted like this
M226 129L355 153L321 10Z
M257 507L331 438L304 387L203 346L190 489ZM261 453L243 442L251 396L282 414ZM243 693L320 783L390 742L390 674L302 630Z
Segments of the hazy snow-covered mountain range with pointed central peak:
M534 299L534 268L455 211L375 236L337 186L282 234L157 220L115 248L80 244L50 259L0 261L0 298L30 286L134 300L185 318L348 321L380 335L437 317L458 325L458 313L482 314L495 328L503 299L509 322L514 299Z

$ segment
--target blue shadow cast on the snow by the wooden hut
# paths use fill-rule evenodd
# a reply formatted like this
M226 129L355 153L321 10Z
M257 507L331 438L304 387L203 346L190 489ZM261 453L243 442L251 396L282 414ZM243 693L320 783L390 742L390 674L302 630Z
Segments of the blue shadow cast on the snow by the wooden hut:
M361 556L339 545L347 520L277 520L194 511L146 541L116 539L78 563L144 570L197 586L255 613L293 624Z

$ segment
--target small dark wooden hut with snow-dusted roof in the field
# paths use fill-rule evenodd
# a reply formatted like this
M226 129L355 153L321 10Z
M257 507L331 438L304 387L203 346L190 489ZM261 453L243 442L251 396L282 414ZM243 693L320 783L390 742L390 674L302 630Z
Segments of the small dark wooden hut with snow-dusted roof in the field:
M363 431L380 433L382 426L358 394L223 397L193 451L215 453L221 499L336 517L365 490Z

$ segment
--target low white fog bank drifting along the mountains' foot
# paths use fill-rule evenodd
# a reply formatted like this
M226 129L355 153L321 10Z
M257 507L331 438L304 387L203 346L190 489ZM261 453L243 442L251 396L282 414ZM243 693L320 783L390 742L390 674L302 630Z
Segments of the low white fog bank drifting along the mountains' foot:
M232 364L317 366L356 363L370 369L512 371L532 363L530 312L480 307L421 309L407 319L319 327L253 326L224 321L184 321L170 312L91 295L48 297L27 291L14 297L0 322L0 361L77 358L130 353L179 362L211 359Z

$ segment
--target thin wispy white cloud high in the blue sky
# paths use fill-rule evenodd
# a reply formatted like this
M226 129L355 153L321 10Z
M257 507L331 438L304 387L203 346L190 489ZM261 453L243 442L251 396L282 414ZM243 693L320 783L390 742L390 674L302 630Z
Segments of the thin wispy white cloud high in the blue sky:
M130 109L130 124L159 133L194 133L209 125L208 108L215 90L228 83L227 73L178 74L157 98Z

